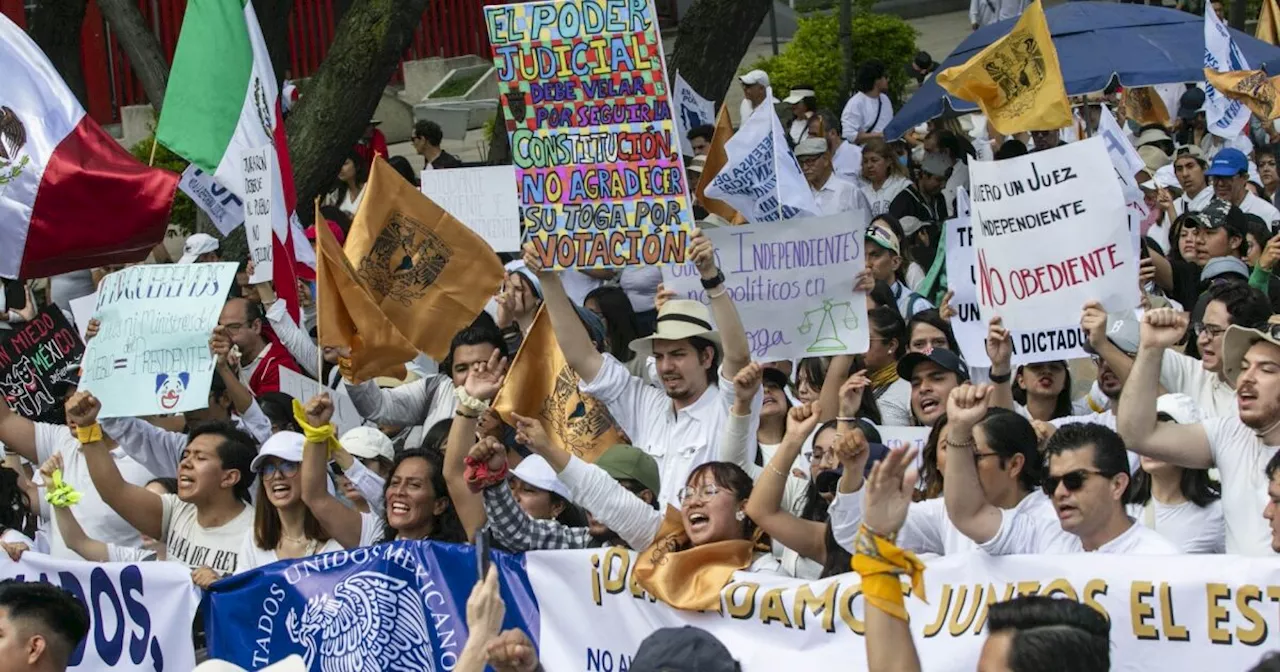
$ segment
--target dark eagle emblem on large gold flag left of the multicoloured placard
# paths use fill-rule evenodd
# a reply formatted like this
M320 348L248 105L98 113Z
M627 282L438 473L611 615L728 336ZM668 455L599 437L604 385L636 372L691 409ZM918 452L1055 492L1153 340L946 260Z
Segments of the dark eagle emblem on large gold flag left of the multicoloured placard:
M410 306L426 294L452 256L453 250L435 232L393 212L372 250L360 260L358 275L375 294Z

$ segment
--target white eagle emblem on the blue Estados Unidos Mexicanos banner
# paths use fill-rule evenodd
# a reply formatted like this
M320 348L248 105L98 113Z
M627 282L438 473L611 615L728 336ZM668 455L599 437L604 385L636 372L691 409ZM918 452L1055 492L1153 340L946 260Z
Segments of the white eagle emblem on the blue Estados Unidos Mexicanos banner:
M285 617L289 639L305 649L307 669L323 672L434 672L426 612L406 581L360 572Z

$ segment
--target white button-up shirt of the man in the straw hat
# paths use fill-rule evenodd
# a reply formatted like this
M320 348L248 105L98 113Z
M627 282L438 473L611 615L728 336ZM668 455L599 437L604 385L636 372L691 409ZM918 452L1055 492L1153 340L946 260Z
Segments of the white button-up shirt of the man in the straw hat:
M675 410L667 394L632 376L605 353L600 371L579 389L604 403L631 443L653 456L662 476L662 500L680 507L680 489L689 472L707 462L751 463L754 454L721 454L721 435L733 406L733 381L719 372L719 385L708 387L692 406ZM750 436L760 424L763 392L751 399Z

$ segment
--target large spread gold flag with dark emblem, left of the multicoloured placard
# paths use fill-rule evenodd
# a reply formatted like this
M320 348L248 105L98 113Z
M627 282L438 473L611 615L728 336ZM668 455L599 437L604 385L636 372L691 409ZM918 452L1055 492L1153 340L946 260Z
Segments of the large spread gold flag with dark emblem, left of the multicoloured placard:
M493 248L381 156L374 157L346 253L381 312L436 361L503 279Z

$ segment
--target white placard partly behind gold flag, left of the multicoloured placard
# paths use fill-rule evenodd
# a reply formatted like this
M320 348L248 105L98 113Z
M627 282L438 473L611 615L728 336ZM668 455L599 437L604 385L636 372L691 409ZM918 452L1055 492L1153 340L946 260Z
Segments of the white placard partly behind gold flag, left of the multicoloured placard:
M494 252L520 251L520 196L508 165L422 170L422 193Z

